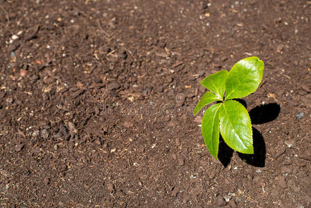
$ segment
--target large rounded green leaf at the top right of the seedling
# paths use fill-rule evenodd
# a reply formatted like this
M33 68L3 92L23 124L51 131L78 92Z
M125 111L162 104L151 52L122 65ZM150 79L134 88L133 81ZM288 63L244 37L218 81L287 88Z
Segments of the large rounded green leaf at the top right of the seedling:
M256 91L263 79L264 64L253 56L234 64L226 79L225 101L242 98Z

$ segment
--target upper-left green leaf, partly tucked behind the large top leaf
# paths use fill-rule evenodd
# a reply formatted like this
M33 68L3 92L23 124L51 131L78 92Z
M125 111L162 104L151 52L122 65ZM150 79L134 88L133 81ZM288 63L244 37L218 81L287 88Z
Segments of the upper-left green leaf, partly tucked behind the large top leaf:
M216 94L220 100L224 97L224 90L226 89L226 76L228 71L222 70L207 76L200 83L207 89Z

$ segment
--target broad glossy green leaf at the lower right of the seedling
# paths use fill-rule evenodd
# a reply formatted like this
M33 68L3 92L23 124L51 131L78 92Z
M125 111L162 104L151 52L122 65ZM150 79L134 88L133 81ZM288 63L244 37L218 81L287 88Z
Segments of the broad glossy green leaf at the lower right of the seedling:
M240 153L254 154L251 119L238 101L225 101L220 107L220 133L226 144Z

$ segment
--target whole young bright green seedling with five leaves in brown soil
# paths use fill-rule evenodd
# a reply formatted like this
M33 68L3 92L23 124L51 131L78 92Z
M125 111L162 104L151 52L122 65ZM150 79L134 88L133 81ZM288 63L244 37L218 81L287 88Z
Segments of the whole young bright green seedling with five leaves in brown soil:
M215 159L218 155L220 134L233 150L254 154L249 113L241 103L234 99L248 96L256 91L263 79L263 69L262 60L249 57L234 64L229 72L218 71L200 82L211 91L202 96L193 115L205 105L216 102L208 107L202 119L203 139Z

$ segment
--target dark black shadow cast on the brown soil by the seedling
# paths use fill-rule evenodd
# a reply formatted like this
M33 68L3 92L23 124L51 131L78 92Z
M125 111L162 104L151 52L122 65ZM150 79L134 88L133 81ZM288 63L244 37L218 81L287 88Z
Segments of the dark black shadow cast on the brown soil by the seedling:
M242 105L246 106L246 102L242 99L237 99ZM249 111L249 116L251 117L251 124L262 124L267 123L269 121L273 121L278 117L278 114L281 110L280 105L277 103L269 103L267 105L259 105ZM265 155L266 155L266 147L265 140L263 139L263 135L260 134L256 128L253 127L253 146L254 146L254 154L242 154L238 153L238 156L247 164L256 167L264 167L265 166ZM233 155L233 149L226 145L224 139L220 137L219 144L219 153L218 159L222 163L223 166L228 166L231 157Z

